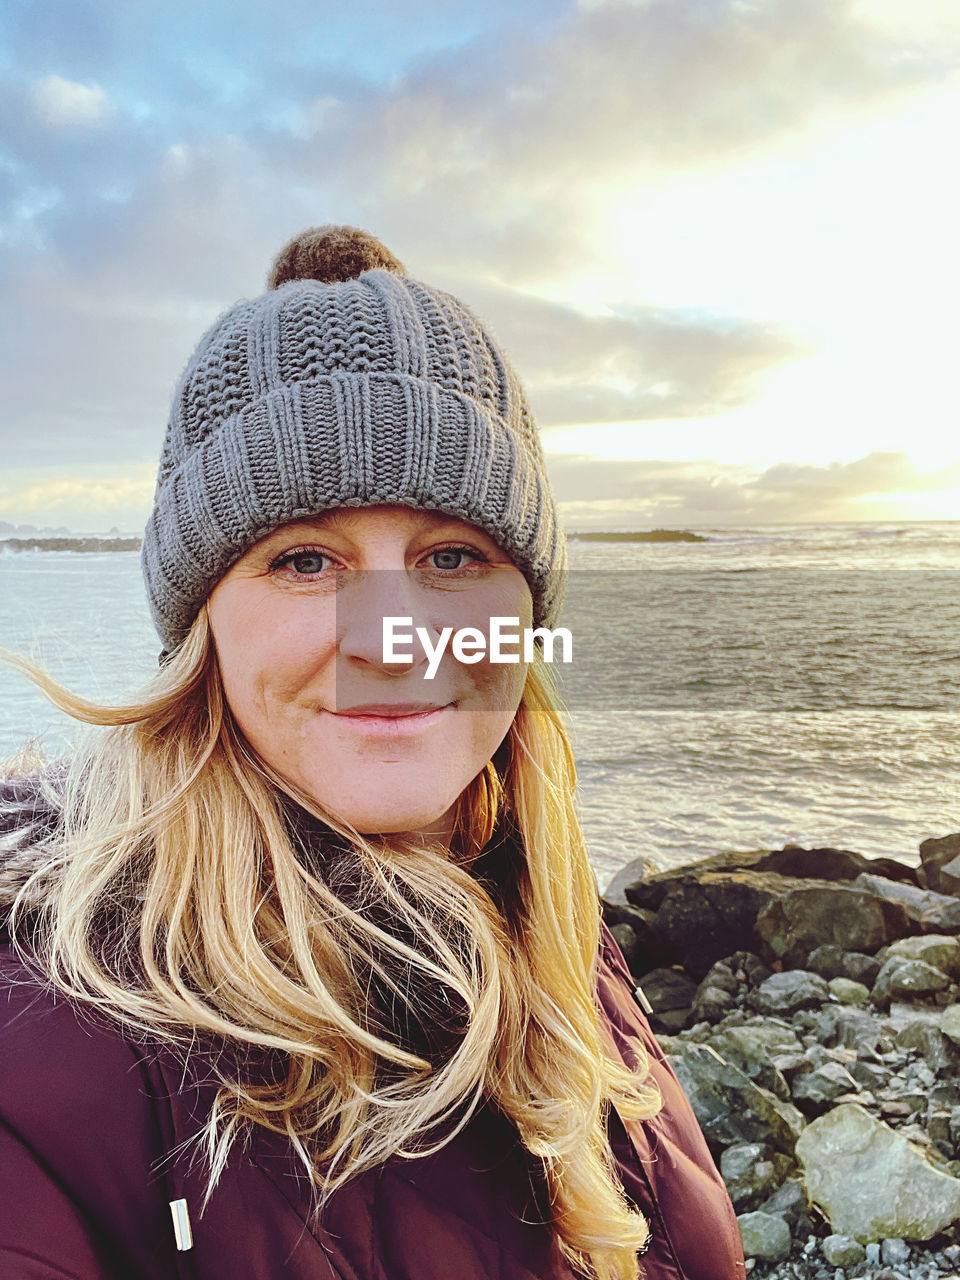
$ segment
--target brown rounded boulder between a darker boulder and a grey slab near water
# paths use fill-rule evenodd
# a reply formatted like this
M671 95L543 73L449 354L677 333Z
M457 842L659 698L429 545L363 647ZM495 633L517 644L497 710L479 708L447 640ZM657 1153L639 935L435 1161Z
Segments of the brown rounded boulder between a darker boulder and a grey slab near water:
M756 916L758 936L785 966L801 965L824 942L841 951L877 951L909 932L901 904L826 881L796 882Z

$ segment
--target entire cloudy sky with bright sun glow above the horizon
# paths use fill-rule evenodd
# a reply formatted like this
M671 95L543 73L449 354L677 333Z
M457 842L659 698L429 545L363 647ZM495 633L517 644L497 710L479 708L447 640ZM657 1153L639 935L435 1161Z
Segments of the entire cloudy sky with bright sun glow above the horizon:
M956 0L9 0L0 520L138 530L204 328L372 230L568 529L960 518Z

